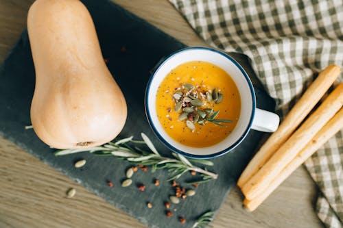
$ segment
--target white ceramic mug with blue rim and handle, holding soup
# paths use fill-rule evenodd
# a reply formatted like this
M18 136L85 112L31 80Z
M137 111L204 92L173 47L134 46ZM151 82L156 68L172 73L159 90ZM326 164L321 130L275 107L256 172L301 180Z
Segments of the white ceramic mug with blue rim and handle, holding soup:
M158 86L172 69L191 61L210 62L222 68L235 81L241 97L241 113L237 125L229 136L210 147L198 148L180 144L165 132L157 118ZM246 71L226 53L205 47L190 47L176 51L158 63L145 91L145 112L154 133L169 149L192 158L212 158L223 155L237 147L250 129L273 132L279 127L278 115L256 107L255 90Z

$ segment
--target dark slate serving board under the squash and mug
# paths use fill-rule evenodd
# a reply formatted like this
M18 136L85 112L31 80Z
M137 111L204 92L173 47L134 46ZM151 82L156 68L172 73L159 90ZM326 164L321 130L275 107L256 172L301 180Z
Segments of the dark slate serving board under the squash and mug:
M185 45L111 1L83 2L93 16L104 58L109 60L108 68L128 103L128 119L119 137L134 136L140 139L140 133L144 132L161 153L170 155L147 123L144 92L150 71L158 60ZM29 107L34 83L34 65L27 31L24 31L0 68L0 136L60 170L148 227L191 227L200 214L209 210L217 212L263 136L251 130L246 140L232 153L213 159L215 166L210 170L218 173L219 178L201 184L194 197L181 201L179 205L172 205L174 216L167 218L163 203L170 194L174 194L174 190L169 182L164 181L168 177L166 170L139 172L132 177L132 186L122 188L120 183L125 179L126 169L131 166L128 162L114 157L96 157L89 153L55 157L54 149L41 142L32 129L25 130L25 125L30 124ZM265 92L258 89L256 92L257 107L274 110L274 101ZM87 160L86 166L74 168L75 160L81 158ZM160 179L160 186L154 186L154 178ZM178 181L185 188L193 188L184 182L192 178L191 175L185 175ZM106 181L112 181L113 188L109 188ZM145 184L144 192L137 190L139 183ZM154 207L148 209L147 201L152 202ZM181 225L178 216L184 216L187 223Z

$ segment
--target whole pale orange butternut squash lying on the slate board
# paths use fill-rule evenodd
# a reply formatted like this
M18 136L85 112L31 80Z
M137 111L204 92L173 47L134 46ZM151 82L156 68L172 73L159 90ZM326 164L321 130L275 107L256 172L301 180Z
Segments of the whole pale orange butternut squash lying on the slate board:
M31 121L56 149L113 140L127 106L108 71L91 15L78 0L37 0L27 15L36 86Z

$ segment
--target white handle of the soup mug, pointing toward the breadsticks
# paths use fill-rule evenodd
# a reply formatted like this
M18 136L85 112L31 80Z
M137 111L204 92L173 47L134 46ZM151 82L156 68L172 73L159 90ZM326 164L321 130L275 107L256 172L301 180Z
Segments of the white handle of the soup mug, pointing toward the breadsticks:
M278 129L279 123L280 118L277 114L257 108L255 110L254 121L252 121L251 129L264 132L274 132Z

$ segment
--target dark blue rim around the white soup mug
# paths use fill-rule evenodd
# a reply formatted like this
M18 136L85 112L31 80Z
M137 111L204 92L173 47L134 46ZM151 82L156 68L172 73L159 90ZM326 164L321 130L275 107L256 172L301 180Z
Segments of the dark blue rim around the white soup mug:
M233 143L232 145L230 145L230 147L228 147L228 148L226 148L226 149L224 149L222 151L218 151L217 153L211 153L211 154L208 154L208 155L195 155L195 154L187 153L185 151L181 151L180 149L177 149L172 144L167 142L167 140L165 140L165 138L163 138L163 136L161 136L161 134L158 132L158 130L155 127L154 121L152 121L152 117L150 115L150 111L149 111L149 108L148 108L149 101L148 101L148 95L147 94L149 94L149 92L150 92L150 87L152 85L152 82L154 81L154 77L156 75L156 72L163 66L163 64L165 64L165 62L167 62L169 59L173 58L174 55L177 55L180 52L189 51L189 50L213 51L215 53L223 55L225 58L230 60L230 62L233 62L233 64L235 64L235 66L237 66L237 68L239 68L239 71L241 71L241 73L246 78L246 81L247 81L247 83L249 85L249 88L250 88L250 93L251 93L251 97L252 97L252 113L251 113L251 116L250 116L250 121L249 121L248 126L244 130L244 133L241 134L241 137L235 143ZM254 87L252 86L252 83L250 81L250 78L249 78L248 74L246 73L246 71L244 71L244 68L236 60L234 60L230 55L227 55L226 53L223 53L222 51L218 51L216 49L211 49L211 48L208 48L208 47L187 47L185 49L180 49L178 51L175 51L174 53L171 53L165 59L163 59L160 62L158 62L158 64L154 67L154 70L152 71L151 77L150 77L150 79L149 79L149 81L147 83L147 87L145 89L144 106L145 106L145 114L147 116L147 121L149 122L150 127L152 128L152 131L154 131L154 134L157 136L157 138L159 140L161 140L161 142L163 142L163 144L165 144L166 147L171 149L171 151L174 151L176 153L179 153L180 155L184 155L185 157L189 157L189 158L211 159L211 158L219 157L221 155L229 153L230 151L233 151L233 149L235 149L235 147L237 147L241 143L241 141L243 141L244 138L246 138L246 136L248 135L248 132L251 129L252 121L254 120L254 116L255 116L256 96L255 96Z

